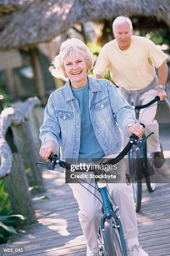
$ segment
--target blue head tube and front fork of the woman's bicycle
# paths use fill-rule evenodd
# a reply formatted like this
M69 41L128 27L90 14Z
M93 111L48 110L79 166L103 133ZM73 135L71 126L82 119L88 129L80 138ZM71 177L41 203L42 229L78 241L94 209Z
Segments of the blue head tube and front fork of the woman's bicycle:
M103 231L103 237L105 239L105 231L104 231L104 223L105 223L105 220L107 218L115 218L115 223L116 223L116 226L117 226L117 230L119 232L119 235L120 235L120 241L121 241L121 245L122 245L122 250L123 250L123 255L124 256L127 256L127 252L126 252L126 246L125 246L125 241L124 241L124 236L123 236L123 230L122 230L122 224L120 222L120 217L116 215L115 211L113 210L113 207L110 203L110 200L108 198L108 195L107 195L107 189L106 187L102 187L99 189L100 190L100 195L102 197L102 202L103 202L103 209L104 209L104 214L101 218L101 223L100 223L100 227Z

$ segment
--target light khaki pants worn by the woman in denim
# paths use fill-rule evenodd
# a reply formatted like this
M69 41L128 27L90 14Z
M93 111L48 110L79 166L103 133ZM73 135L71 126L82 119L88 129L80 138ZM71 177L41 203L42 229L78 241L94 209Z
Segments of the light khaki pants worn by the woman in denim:
M112 154L107 156L107 158L115 158L117 155L118 153ZM125 175L126 170L124 162L123 165L124 170L122 171ZM95 182L91 184L96 186ZM82 185L101 200L100 192L98 190L86 183L82 183ZM78 211L78 217L86 243L89 246L91 253L97 253L99 251L97 234L102 217L102 204L94 195L83 188L80 184L69 184L69 186L71 187L73 195L79 205L80 210ZM118 214L120 215L125 237L133 238L138 236L132 187L130 185L127 186L126 183L107 183L107 189L119 207Z

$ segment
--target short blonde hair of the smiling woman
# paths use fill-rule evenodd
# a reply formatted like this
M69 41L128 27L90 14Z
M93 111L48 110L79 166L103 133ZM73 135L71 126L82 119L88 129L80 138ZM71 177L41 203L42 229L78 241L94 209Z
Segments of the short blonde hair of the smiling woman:
M58 71L62 71L64 76L67 77L63 62L68 56L73 58L73 56L76 56L77 54L82 54L85 59L86 70L89 72L94 64L93 54L87 45L77 38L68 38L66 41L62 42L59 54L53 59L52 64Z

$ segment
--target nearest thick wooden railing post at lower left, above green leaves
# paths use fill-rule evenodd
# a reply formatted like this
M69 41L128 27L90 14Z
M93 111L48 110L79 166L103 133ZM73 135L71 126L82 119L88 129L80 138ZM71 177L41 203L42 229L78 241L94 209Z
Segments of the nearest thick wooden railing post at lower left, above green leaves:
M37 222L37 220L24 170L22 157L18 153L13 153L11 173L5 178L5 182L13 214L22 214L26 217L24 225L29 225Z

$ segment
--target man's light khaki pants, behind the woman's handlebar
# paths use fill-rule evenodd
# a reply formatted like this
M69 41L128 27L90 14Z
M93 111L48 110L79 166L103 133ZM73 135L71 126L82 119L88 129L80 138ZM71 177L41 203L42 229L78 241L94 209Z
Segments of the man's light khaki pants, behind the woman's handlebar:
M118 91L121 95L121 88L118 88ZM141 95L140 100L141 100L141 105L145 105L146 103L150 102L155 98L156 95L155 89L148 90L148 92L143 93ZM130 99L131 102L129 102L130 105L132 105L133 98ZM139 113L139 122L143 123L145 125L145 134L146 136L154 132L148 140L147 140L147 145L148 145L148 152L151 154L154 151L157 151L158 148L160 148L160 143L159 143L159 125L157 120L155 120L155 115L157 111L157 106L158 103L155 102L152 105L150 105L148 108L142 108L140 109ZM127 139L125 139L125 145L127 143Z

